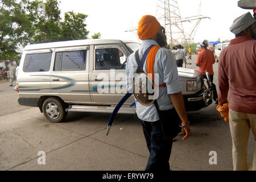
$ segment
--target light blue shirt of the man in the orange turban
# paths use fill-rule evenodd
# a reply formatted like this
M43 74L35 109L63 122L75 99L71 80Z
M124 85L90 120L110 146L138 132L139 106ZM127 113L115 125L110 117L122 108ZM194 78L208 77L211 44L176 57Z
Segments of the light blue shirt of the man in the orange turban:
M143 40L141 47L139 47L139 59L142 59L143 53L151 46L159 46L155 40ZM129 93L133 93L133 77L136 73L138 64L135 58L135 52L132 53L126 64L126 86ZM147 64L143 65L143 71L147 73ZM166 84L165 87L155 88L155 92L158 93L156 99L160 110L173 109L169 94L175 94L181 92L181 85L178 79L177 64L174 59L173 53L166 48L159 48L154 61L154 81L157 85ZM136 113L139 119L143 121L154 122L159 120L157 109L155 105L143 106L136 98Z

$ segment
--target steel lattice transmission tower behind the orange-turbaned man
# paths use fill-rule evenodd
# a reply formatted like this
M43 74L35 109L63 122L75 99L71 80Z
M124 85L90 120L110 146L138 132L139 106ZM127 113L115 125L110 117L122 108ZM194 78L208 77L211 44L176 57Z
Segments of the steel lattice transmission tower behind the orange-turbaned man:
M178 0L158 0L157 13L155 16L158 22L165 28L169 44L190 43L193 42L199 23L203 18L209 18L201 15L201 1L199 3L198 15L182 18L179 13ZM190 32L183 29L184 22L197 20Z

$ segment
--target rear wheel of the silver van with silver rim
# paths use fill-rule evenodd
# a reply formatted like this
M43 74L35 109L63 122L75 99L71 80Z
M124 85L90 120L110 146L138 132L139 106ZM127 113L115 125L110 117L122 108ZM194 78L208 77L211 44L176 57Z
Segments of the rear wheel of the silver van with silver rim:
M53 123L62 122L67 117L65 105L57 98L48 98L43 102L43 115Z

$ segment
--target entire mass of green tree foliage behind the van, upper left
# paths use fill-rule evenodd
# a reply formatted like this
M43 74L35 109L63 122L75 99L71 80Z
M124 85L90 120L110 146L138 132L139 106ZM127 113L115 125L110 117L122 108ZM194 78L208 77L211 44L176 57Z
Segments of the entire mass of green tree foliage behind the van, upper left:
M28 43L88 38L87 15L69 11L62 20L60 14L57 0L0 0L0 59L18 61L19 47ZM92 38L100 36L97 33Z

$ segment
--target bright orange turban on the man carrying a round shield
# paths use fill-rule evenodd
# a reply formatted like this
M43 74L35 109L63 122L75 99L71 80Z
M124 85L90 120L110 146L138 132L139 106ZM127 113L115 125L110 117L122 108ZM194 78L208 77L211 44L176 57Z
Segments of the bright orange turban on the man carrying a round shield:
M139 39L146 40L153 38L153 36L157 35L160 27L161 25L155 16L143 16L141 20L139 20L139 26L137 30Z

